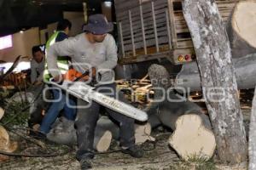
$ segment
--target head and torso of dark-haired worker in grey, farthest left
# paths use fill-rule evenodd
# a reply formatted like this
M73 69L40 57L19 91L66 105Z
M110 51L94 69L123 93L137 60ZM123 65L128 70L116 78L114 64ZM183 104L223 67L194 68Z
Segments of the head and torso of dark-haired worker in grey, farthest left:
M32 48L32 61L31 61L31 82L32 84L40 84L43 82L44 72L44 52L39 46Z

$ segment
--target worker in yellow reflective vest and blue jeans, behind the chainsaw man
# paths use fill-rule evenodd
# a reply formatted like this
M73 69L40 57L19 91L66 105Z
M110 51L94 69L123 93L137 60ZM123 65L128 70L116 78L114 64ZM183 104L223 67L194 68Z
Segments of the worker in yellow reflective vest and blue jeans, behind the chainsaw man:
M61 20L58 22L57 31L49 38L49 41L46 43L46 49L48 49L55 42L61 42L68 38L68 33L71 29L71 22L69 20ZM48 56L46 53L46 60L50 59L51 56ZM51 59L50 59L51 60ZM62 74L65 74L69 68L69 57L59 56L57 59L57 65L61 70ZM44 70L44 82L48 82L50 78L48 65L45 63ZM51 90L54 96L53 103L50 105L49 110L46 112L43 121L39 127L38 137L45 138L46 133L49 133L51 125L55 122L57 116L59 116L61 110L64 109L64 116L68 120L74 120L76 116L76 102L75 99L72 99L72 96L66 101L65 93L62 93L61 90L52 89Z

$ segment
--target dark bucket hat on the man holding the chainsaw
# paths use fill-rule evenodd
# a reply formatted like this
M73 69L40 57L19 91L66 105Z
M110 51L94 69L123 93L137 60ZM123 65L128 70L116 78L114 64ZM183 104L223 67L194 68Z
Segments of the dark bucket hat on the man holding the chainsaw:
M89 31L93 34L105 34L113 31L113 23L108 22L103 14L93 14L89 16L88 24L84 26L83 31Z

